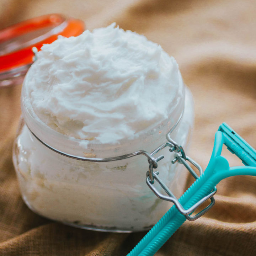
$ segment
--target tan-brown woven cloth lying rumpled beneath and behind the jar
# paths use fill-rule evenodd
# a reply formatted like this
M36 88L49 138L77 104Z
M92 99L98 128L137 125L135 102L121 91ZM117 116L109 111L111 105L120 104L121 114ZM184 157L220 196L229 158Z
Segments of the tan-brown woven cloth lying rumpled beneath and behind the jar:
M203 167L222 122L256 148L255 0L0 0L0 28L53 12L80 18L89 29L115 21L176 58L195 101L189 155ZM20 89L0 88L0 255L126 255L145 233L71 228L23 203L11 159ZM237 163L234 156L230 162ZM256 255L256 178L228 178L215 198L209 213L186 222L156 255Z

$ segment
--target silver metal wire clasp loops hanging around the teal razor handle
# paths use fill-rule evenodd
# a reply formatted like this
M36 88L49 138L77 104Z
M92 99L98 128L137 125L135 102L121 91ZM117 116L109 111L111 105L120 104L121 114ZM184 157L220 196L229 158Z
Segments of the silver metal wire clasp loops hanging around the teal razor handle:
M174 155L174 159L171 161L172 164L175 164L176 162L183 164L186 169L191 173L191 175L197 179L199 176L196 174L196 172L192 169L192 167L190 166L190 164L192 164L194 167L196 167L199 171L199 174L202 175L203 174L203 169L202 167L197 164L196 161L194 161L193 159L191 159L190 157L186 156L184 149L182 148L182 146L178 145L174 140L172 140L170 138L170 135L167 134L166 138L168 140L167 143L162 144L159 148L157 148L156 150L154 150L150 155L154 155L157 152L159 152L161 149L165 148L166 146L170 147L169 151L173 152L175 151L175 155ZM163 159L164 156L160 156L159 160ZM159 161L156 160L156 161ZM190 163L190 164L188 164ZM147 177L146 177L146 183L147 185L150 187L150 189L156 194L156 196L158 196L160 199L163 199L165 201L169 201L175 204L176 208L178 209L178 211L183 214L188 220L196 220L199 217L201 217L204 213L206 213L210 208L213 207L215 200L213 198L213 195L216 193L217 189L216 187L213 188L213 190L205 197L203 197L201 200L199 200L197 203L195 203L192 207L190 207L189 209L184 209L183 206L181 205L181 203L178 201L178 199L174 196L174 194L169 190L169 188L164 184L164 182L158 177L159 172L156 171L154 172L153 169L155 167L153 166L153 164L151 162L149 162L149 170L147 172ZM157 181L159 183L159 185L163 188L163 190L167 193L167 196L161 194L156 187L154 186L154 181ZM194 215L193 217L191 216L191 213L194 212L194 210L196 210L196 208L198 208L202 203L204 203L205 201L207 201L210 198L211 203L204 208L201 212L199 212L198 214Z

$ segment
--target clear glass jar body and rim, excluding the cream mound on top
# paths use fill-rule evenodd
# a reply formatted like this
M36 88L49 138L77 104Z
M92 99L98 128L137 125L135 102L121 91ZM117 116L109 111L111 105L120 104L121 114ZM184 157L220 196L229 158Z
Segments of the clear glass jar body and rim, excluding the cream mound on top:
M49 128L25 105L22 89L21 125L14 143L13 161L22 198L33 212L80 228L131 232L150 229L170 208L146 185L148 159L144 155L114 161L84 161L65 154L106 158L138 150L152 152L171 138L187 148L193 126L193 99L183 84L172 102L169 118L120 144L89 144L70 139ZM55 151L54 151L55 150ZM56 152L59 151L59 152ZM64 155L63 155L63 154ZM170 151L161 150L159 177L176 196L181 196L186 170L171 164Z

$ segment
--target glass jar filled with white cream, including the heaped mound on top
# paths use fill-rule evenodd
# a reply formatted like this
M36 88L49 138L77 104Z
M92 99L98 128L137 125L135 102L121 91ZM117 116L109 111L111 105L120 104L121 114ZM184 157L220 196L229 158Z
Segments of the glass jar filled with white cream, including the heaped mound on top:
M88 158L151 152L173 127L172 138L186 146L192 97L175 59L159 45L115 24L44 45L23 83L22 114L14 164L34 212L84 228L138 231L170 207L146 186L144 156L79 161L54 153L30 132ZM167 149L163 154L159 175L181 193L185 171L171 164Z

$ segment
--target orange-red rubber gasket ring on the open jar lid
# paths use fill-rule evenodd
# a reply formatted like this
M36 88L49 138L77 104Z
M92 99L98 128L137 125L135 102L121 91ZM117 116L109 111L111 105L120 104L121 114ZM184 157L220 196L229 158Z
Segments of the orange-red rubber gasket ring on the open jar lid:
M65 21L65 18L59 14L50 14L50 15L44 15L44 16L32 18L30 20L17 23L13 26L10 26L0 31L0 41L5 41L8 39L20 36L22 34L25 34L27 32L37 30L39 28L43 28L51 25L57 26L64 21ZM23 66L23 65L32 63L32 58L34 55L31 50L32 47L41 49L43 44L52 43L58 38L59 35L62 35L64 37L78 36L84 31L84 29L85 29L84 22L82 22L81 20L76 20L73 18L66 20L66 26L62 31L56 34L52 34L48 38L45 38L42 41L37 42L33 45L30 45L28 47L22 48L15 52L11 52L9 54L0 56L0 72L8 71L18 66Z

